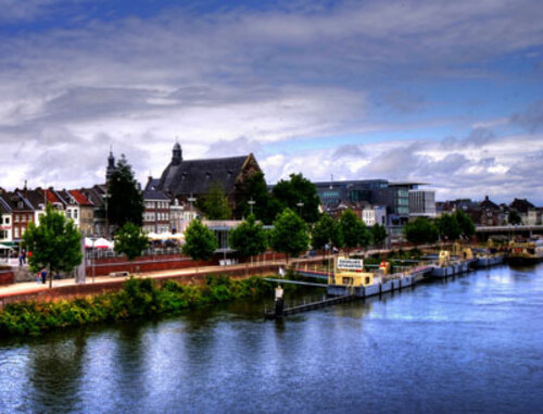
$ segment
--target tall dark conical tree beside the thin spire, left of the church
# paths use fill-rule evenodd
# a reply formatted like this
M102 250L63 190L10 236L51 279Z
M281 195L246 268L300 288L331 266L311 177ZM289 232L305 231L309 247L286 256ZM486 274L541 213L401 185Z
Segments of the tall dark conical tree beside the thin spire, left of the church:
M143 196L125 155L117 162L108 181L108 193L110 225L123 227L126 223L134 223L136 226L143 224Z

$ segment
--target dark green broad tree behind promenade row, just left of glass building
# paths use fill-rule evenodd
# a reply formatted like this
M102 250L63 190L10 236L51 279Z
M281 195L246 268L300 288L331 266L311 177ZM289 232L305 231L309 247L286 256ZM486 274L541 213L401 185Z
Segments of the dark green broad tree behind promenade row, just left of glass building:
M320 199L317 195L317 188L302 174L291 174L289 180L281 179L274 187L273 195L281 211L289 208L300 212L301 217L306 223L315 223L318 219ZM299 206L299 203L303 205Z

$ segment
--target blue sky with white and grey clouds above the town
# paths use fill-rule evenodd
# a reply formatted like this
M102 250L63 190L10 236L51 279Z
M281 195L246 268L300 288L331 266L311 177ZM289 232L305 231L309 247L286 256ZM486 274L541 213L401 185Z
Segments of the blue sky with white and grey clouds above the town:
M0 187L143 184L253 152L274 184L543 205L539 0L0 0Z

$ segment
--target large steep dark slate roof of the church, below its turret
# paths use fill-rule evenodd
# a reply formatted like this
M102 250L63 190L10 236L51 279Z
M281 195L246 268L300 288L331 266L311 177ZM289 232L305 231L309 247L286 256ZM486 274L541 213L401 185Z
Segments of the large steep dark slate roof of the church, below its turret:
M178 165L169 163L162 173L157 189L174 195L201 195L212 183L219 183L224 191L229 193L248 156L184 160Z

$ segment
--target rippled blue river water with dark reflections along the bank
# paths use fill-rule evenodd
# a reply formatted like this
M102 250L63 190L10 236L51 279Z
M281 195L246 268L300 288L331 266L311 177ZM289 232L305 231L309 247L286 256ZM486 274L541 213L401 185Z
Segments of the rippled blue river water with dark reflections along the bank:
M543 265L263 308L0 342L0 413L543 412Z

